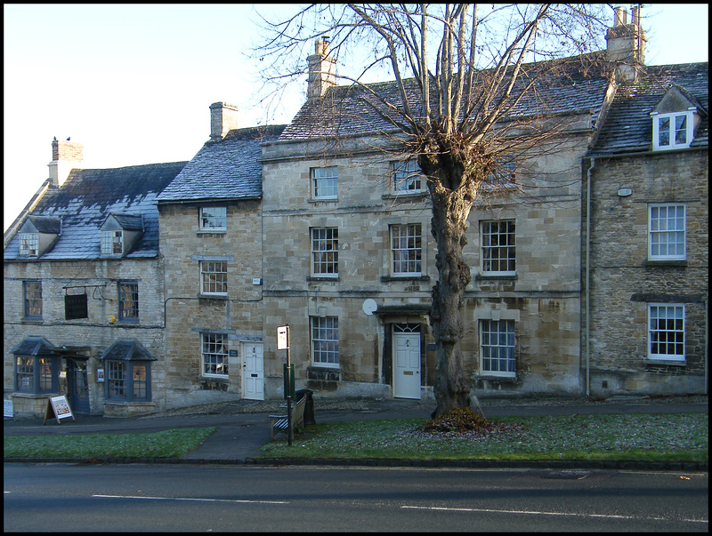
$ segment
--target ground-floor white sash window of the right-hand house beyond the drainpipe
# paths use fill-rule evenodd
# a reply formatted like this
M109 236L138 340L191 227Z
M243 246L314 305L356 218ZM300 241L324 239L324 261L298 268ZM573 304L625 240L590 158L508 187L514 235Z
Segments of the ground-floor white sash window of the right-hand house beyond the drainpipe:
M684 304L648 304L648 357L684 361Z

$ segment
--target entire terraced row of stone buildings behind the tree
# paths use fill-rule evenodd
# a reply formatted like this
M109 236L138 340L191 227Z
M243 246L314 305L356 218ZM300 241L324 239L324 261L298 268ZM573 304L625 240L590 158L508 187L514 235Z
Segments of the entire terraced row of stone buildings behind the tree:
M479 396L706 392L708 67L646 67L626 16L498 125L549 137L507 155L470 212ZM308 64L290 124L239 128L216 102L189 163L72 169L81 146L54 141L4 236L16 416L60 393L108 415L281 397L284 325L296 388L433 396L425 178L389 110L336 84L326 40Z

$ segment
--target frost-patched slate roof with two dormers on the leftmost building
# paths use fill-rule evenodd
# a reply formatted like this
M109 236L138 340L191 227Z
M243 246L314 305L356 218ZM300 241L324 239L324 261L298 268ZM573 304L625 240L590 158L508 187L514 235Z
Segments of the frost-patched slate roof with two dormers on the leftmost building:
M61 218L61 236L40 260L97 259L101 253L101 224L109 212L143 216L144 232L126 259L158 255L156 197L181 172L185 162L147 164L109 169L74 169L61 188L49 188L30 217ZM15 235L4 250L4 260L20 258Z

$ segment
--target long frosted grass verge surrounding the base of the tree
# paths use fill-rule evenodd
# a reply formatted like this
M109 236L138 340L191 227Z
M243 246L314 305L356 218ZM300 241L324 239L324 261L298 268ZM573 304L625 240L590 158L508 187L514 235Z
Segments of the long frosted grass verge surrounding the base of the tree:
M265 444L263 458L402 460L708 460L708 414L493 419L486 433L431 435L425 419L317 424Z

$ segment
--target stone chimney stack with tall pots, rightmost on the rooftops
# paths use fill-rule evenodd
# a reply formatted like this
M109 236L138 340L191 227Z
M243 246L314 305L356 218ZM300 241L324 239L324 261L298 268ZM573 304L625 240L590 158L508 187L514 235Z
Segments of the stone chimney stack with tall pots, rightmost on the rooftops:
M645 62L645 33L641 27L640 6L631 9L631 23L627 23L625 7L614 8L613 27L606 32L606 60L616 66L618 84L635 83Z

